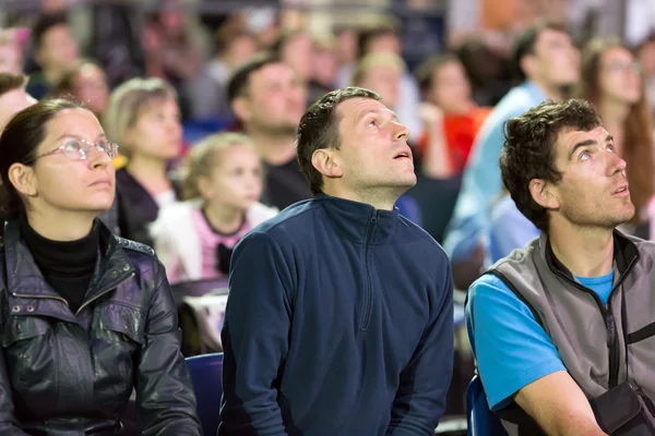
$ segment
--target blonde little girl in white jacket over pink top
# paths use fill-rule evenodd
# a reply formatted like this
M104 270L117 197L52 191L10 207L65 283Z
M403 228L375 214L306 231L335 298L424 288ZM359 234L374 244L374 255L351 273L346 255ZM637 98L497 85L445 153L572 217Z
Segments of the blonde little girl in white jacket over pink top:
M262 170L248 136L210 136L191 149L188 159L187 201L162 209L151 228L171 282L227 275L236 243L277 213L258 202Z

